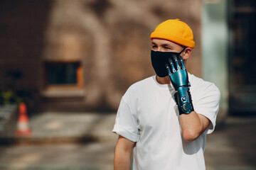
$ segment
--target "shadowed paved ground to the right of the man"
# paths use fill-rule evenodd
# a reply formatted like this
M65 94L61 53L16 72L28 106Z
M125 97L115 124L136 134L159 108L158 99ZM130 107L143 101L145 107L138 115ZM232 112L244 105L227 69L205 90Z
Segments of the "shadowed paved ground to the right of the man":
M205 157L209 170L255 170L256 117L227 118L208 135Z

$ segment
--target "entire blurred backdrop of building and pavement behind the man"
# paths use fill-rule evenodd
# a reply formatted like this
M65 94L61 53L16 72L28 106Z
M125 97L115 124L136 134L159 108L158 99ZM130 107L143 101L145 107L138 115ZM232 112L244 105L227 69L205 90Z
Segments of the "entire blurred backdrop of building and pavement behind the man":
M149 35L170 18L193 30L188 72L221 92L208 169L256 169L254 0L1 0L0 168L112 169L119 101L154 75Z

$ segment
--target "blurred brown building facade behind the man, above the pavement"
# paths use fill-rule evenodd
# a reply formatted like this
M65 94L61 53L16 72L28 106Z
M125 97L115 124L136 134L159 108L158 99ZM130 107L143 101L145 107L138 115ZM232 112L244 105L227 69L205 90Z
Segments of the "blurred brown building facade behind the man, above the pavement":
M0 89L25 96L38 111L116 111L131 84L154 75L150 33L162 21L179 18L191 26L196 42L188 71L220 88L226 115L237 109L229 101L237 102L239 88L250 85L247 94L255 93L255 67L243 69L255 64L244 60L255 33L248 46L249 37L239 39L255 28L255 2L246 2L239 8L235 0L3 0ZM247 15L252 18L245 21Z

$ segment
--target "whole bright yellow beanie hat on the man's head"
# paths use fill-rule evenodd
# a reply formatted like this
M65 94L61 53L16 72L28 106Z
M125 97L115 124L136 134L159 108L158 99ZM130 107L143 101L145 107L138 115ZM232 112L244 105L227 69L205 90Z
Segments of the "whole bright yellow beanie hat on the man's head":
M171 19L160 23L150 35L150 39L153 38L170 40L186 47L195 47L191 28L179 19Z

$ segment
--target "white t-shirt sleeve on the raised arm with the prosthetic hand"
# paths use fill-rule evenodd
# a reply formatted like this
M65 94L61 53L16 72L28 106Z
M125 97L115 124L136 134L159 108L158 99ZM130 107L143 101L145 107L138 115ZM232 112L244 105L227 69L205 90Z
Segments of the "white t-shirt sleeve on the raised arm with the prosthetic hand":
M193 101L193 96L192 96ZM210 120L210 125L206 129L210 134L215 129L215 122L219 109L220 91L214 84L210 84L205 90L198 94L198 99L193 103L196 113L206 116Z

